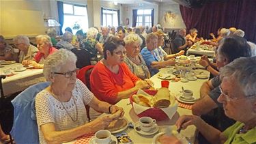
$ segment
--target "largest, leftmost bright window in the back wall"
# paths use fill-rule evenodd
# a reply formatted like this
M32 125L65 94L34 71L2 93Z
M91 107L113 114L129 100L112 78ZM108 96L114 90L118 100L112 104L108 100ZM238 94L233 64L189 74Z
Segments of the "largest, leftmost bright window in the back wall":
M65 31L66 27L70 27L75 34L79 29L87 31L88 29L88 16L87 8L84 5L73 5L64 3L64 22L62 31Z

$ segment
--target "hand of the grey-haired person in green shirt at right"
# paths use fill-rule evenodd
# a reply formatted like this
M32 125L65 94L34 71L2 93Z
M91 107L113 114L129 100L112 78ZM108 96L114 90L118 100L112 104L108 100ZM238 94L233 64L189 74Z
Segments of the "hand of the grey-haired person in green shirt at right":
M196 127L201 124L203 120L197 115L182 115L177 119L176 126L177 129L186 129L187 126L195 125Z

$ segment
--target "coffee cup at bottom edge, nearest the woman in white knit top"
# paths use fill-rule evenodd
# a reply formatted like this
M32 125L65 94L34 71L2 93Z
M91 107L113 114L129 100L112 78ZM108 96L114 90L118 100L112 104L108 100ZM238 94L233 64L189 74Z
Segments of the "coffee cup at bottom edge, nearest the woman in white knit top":
M109 130L99 130L95 133L95 142L97 144L110 143L111 132Z

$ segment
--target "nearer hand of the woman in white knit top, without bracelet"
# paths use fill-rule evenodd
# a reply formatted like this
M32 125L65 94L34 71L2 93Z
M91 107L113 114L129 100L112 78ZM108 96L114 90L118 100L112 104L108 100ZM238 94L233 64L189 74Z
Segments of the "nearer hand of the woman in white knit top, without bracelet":
M91 121L89 124L91 124L91 130L97 132L98 130L103 130L108 127L111 121L112 119L109 115L104 115L103 117L98 117L94 121Z

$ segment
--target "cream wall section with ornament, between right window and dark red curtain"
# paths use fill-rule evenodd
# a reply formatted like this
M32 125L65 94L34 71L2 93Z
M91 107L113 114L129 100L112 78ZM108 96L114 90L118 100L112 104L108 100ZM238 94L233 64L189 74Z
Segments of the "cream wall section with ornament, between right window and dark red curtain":
M165 21L164 15L165 15L165 12L167 11L171 11L173 14L175 14L175 19ZM184 21L182 20L182 15L180 14L180 5L170 4L170 3L160 3L158 14L159 14L158 23L160 23L162 27L169 28L169 29L186 28Z

